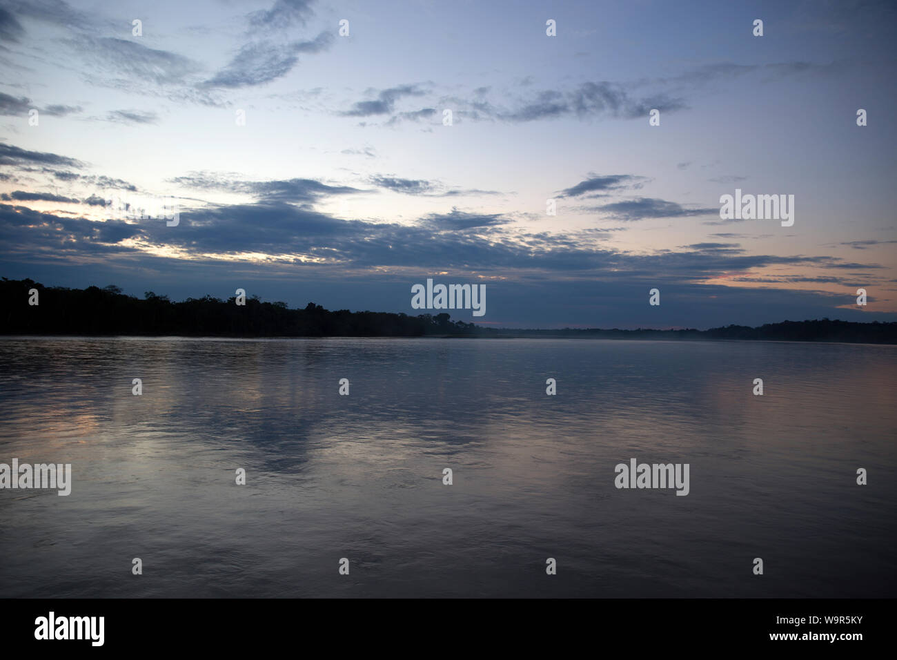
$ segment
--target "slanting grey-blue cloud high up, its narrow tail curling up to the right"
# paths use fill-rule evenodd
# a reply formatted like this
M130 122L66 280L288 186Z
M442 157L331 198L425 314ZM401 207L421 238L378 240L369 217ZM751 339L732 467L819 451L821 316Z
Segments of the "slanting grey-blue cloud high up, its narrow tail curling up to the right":
M332 32L321 32L311 41L276 45L270 41L248 43L205 87L238 88L269 83L287 75L299 62L300 53L319 53L333 43Z

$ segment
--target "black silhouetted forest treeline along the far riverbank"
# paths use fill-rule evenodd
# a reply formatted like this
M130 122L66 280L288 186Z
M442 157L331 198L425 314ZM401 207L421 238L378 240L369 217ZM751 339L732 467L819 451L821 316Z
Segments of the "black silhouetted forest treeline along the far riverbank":
M30 289L39 304L29 304ZM572 337L592 339L767 339L897 344L897 322L783 321L759 328L729 325L711 330L514 330L451 321L448 313L408 316L392 312L330 312L319 304L290 309L257 296L228 300L187 298L177 303L152 291L141 300L118 286L70 289L30 279L0 281L5 335L185 337Z

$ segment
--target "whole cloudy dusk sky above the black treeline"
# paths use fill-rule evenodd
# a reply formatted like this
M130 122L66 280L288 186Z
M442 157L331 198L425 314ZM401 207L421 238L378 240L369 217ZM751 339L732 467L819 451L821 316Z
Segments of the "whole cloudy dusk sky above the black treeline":
M3 277L408 314L431 278L484 285L449 312L492 327L897 321L893 2L0 0L0 72ZM736 189L794 223L724 219Z

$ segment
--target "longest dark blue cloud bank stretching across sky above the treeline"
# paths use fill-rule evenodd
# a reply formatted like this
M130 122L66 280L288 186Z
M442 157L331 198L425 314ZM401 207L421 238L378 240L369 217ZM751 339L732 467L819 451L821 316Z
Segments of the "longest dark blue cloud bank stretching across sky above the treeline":
M696 243L679 251L653 254L630 253L597 248L588 233L524 233L502 227L505 221L503 216L469 214L457 209L426 216L411 225L348 221L308 207L262 201L182 209L179 225L168 227L161 220L96 223L3 205L0 241L7 256L29 263L48 254L53 259L72 262L101 255L104 263L126 260L140 268L161 268L162 263L170 263L181 269L194 268L196 272L213 263L227 263L209 260L203 256L205 253L260 252L279 263L301 267L303 272L331 272L343 282L351 274L371 277L371 268L414 268L491 272L501 274L502 279L518 281L561 274L592 283L604 279L619 286L644 281L653 286L682 287L732 274L753 277L749 275L752 268L770 266L858 271L882 268L876 264L845 263L830 256L745 254L727 243ZM135 252L121 244L126 239L175 247L185 252L187 258L165 260ZM338 271L333 270L335 267ZM264 270L271 273L274 268L268 262ZM294 278L295 271L284 277ZM643 295L647 295L647 288Z

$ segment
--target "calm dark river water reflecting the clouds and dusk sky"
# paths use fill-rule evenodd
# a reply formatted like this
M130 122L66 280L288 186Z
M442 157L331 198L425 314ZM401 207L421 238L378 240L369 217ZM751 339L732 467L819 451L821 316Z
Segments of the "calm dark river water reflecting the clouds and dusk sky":
M0 596L893 597L895 395L897 347L0 339L0 462L74 471L0 490Z

